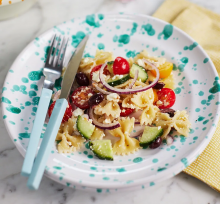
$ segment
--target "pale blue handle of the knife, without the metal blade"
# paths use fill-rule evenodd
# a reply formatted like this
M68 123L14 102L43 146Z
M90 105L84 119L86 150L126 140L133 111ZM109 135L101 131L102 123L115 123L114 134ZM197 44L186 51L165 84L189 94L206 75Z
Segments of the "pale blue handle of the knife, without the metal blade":
M44 137L41 142L40 149L34 162L31 175L27 182L29 189L37 190L40 185L48 157L50 155L52 146L54 145L54 141L67 105L68 102L66 99L58 99L55 103L46 132L44 133Z

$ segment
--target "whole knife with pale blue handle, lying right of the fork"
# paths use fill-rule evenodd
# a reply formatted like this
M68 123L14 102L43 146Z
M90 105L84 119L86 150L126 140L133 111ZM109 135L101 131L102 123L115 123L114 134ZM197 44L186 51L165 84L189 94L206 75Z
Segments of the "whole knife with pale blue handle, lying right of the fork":
M47 129L44 133L40 149L34 162L31 175L29 176L27 182L27 186L30 189L36 190L40 185L45 166L52 149L52 145L54 144L55 137L68 105L67 100L69 98L69 93L75 79L81 58L83 56L83 51L85 49L88 38L88 36L83 38L67 66L67 70L63 77L60 99L58 99L55 103L52 115L47 125Z

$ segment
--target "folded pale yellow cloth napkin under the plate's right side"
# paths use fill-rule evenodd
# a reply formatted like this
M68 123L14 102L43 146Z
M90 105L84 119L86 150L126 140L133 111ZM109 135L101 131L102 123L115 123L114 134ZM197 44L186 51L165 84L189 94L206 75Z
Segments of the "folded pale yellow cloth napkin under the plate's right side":
M210 56L220 75L220 15L186 0L166 0L153 16L193 37ZM184 172L220 192L220 121L209 145Z

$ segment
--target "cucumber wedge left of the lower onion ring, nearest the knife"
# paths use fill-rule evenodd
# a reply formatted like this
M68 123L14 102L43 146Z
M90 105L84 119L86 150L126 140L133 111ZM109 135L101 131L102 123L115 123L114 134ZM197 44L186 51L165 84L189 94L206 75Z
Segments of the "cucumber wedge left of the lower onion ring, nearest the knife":
M85 138L90 139L92 136L95 125L92 125L88 120L84 119L82 116L77 117L76 127L79 133Z

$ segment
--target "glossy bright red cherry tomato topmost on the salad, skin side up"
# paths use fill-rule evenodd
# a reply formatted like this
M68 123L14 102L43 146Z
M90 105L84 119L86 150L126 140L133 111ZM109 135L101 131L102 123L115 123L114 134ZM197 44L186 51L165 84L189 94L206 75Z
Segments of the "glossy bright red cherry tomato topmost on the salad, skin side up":
M117 57L113 64L113 73L116 75L123 75L129 73L129 63L123 57Z

